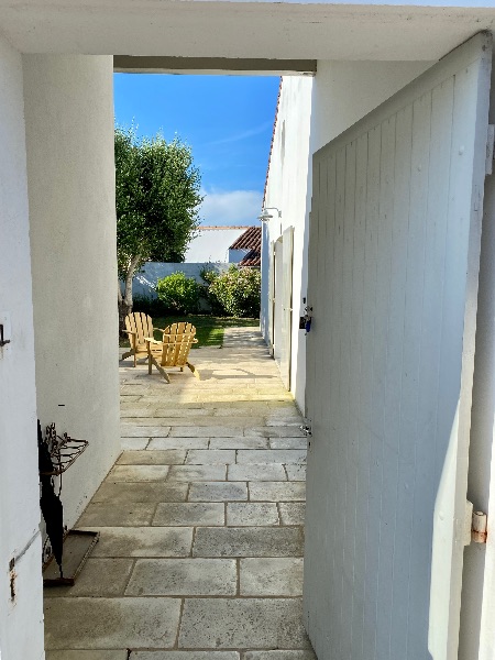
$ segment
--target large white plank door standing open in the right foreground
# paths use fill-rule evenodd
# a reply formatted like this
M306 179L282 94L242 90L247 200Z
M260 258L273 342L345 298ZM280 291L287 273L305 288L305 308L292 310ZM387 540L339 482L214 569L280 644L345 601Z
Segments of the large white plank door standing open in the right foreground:
M457 658L491 50L476 35L314 157L319 660Z

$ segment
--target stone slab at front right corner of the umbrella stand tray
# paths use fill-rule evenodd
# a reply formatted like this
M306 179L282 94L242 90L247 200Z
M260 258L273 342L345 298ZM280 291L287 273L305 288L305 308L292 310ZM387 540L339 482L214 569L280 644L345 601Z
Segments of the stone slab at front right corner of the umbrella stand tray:
M46 588L45 597L123 596L133 565L132 559L95 559L91 556L74 586Z

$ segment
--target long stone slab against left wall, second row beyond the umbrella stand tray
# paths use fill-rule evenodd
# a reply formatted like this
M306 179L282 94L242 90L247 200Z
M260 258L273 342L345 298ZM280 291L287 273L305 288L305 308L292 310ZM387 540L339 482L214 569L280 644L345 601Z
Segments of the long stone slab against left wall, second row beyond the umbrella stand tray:
M112 482L109 477L98 488L92 502L127 504L130 502L186 502L187 484L161 482Z

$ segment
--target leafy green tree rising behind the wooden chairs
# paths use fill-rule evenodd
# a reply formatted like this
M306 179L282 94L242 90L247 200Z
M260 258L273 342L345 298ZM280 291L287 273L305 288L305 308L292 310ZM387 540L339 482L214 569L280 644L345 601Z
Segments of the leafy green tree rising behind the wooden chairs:
M183 262L199 223L201 177L190 146L116 128L119 320L132 311L132 279L147 261Z

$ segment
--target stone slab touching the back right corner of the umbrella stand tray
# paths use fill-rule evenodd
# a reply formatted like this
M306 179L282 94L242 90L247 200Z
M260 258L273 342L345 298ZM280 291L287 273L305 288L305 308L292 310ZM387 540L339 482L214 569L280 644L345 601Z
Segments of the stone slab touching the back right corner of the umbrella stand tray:
M100 532L91 557L187 557L193 527L91 527ZM82 573L81 573L82 574Z

